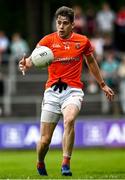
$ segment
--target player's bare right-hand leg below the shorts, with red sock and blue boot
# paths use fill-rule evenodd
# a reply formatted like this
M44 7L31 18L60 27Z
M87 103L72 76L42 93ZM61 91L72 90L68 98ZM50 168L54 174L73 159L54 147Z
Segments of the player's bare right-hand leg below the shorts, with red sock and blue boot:
M63 161L62 161L62 175L71 176L70 158L72 155L74 145L74 124L79 109L74 104L67 105L63 110L64 118L64 133L63 133Z

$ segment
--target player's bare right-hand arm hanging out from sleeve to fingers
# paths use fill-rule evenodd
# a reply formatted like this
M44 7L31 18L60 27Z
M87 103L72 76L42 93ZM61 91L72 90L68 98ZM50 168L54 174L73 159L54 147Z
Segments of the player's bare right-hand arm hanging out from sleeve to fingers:
M114 91L110 87L108 87L107 84L104 82L102 74L100 72L100 68L99 68L93 54L86 56L86 63L88 65L90 72L93 74L96 81L99 83L100 88L104 91L107 98L110 101L113 100L114 99Z

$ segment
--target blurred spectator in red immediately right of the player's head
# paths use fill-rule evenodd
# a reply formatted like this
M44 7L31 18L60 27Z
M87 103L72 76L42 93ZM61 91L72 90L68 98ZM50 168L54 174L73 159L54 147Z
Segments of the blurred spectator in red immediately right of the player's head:
M83 13L83 10L79 5L73 6L73 10L75 13L74 31L79 34L85 34L86 33L86 17Z

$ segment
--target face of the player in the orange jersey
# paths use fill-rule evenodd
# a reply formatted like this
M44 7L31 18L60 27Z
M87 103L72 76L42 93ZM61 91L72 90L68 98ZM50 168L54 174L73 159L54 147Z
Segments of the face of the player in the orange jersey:
M58 16L56 19L57 33L61 38L69 38L73 29L73 23L65 16Z

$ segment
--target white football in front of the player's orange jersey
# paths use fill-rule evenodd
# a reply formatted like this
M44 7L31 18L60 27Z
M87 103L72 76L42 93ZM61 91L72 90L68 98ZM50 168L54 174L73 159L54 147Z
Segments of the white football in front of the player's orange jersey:
M36 67L47 67L54 60L54 54L52 50L46 46L36 47L32 54L31 59Z

